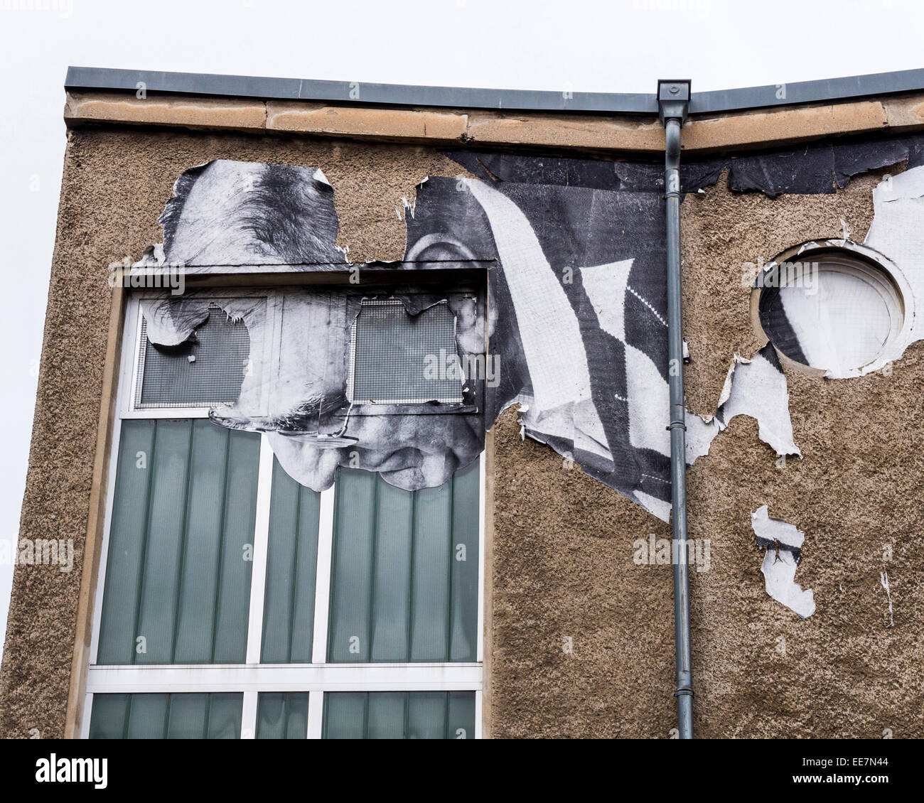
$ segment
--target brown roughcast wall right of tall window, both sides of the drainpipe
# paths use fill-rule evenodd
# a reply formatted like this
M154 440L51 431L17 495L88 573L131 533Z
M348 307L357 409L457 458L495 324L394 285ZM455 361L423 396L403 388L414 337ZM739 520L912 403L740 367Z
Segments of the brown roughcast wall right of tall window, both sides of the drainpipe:
M840 237L841 218L862 241L879 175L831 195L770 200L732 193L721 180L687 196L691 408L713 412L732 355L759 346L742 263ZM695 733L924 736L924 435L915 426L924 415L924 345L910 347L891 376L831 381L788 370L786 379L802 460L777 468L756 421L739 417L687 472L689 538L711 541L710 570L691 571ZM494 735L668 736L672 569L636 566L632 541L670 538L669 527L545 447L520 444L512 412L495 444ZM814 590L818 606L807 620L764 590L750 523L764 504L805 530L796 582Z

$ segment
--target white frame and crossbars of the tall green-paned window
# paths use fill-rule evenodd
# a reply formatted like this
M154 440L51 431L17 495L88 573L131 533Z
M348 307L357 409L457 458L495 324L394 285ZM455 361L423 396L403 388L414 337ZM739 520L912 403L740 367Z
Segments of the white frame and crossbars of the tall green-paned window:
M266 290L215 290L203 298L252 298L266 296L270 303L276 293ZM273 451L265 433L261 434L260 468L257 481L257 512L254 532L253 566L250 580L250 608L246 663L211 664L135 664L105 666L96 663L103 609L103 591L109 552L110 525L116 487L119 438L122 421L129 419L202 419L209 408L133 408L136 384L140 381L141 315L140 300L152 297L142 291L128 296L125 328L122 334L122 359L116 394L116 417L113 424L109 456L109 481L106 489L103 549L93 605L90 665L87 670L86 696L81 717L81 738L90 735L94 694L143 694L184 692L241 692L243 707L241 738L254 738L257 728L257 696L262 691L307 691L309 694L307 738L322 737L323 695L329 691L474 691L475 738L481 736L483 687L484 623L484 453L479 457L479 582L478 645L473 663L326 663L329 624L331 557L334 546L335 486L321 494L318 529L318 558L314 599L314 635L311 663L260 663L263 625L267 548L270 528L270 497L273 487ZM268 348L278 353L279 320L274 320L274 336ZM272 364L272 363L271 363Z

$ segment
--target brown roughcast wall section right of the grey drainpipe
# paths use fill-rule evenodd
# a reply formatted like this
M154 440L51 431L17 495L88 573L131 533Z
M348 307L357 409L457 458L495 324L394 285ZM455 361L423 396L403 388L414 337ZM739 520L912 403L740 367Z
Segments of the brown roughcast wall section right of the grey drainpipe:
M857 176L833 195L733 194L723 182L683 204L690 405L711 411L731 353L757 340L741 263L816 237L862 241L872 189ZM711 571L692 587L695 715L703 736L924 736L920 622L924 561L924 347L882 372L826 380L787 370L803 459L777 468L754 421L738 418L688 474L691 538L711 538ZM803 621L763 590L749 514L805 530L796 582L814 590ZM893 560L883 561L892 544ZM894 627L881 572L887 571ZM785 653L777 648L785 639Z

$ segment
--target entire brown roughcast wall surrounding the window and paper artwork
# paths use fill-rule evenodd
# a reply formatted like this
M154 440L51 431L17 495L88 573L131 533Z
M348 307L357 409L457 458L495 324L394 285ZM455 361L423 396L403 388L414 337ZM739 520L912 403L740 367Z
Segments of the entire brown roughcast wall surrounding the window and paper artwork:
M18 566L0 674L0 735L62 736L110 321L108 265L162 238L157 216L183 170L211 159L319 166L355 262L397 259L395 208L428 175L465 171L432 146L236 132L79 128L68 135L39 395L20 537L74 538L75 569ZM895 170L893 170L895 172ZM758 343L741 265L811 237L862 239L873 176L834 195L733 195L683 204L691 408L712 412L732 354ZM699 736L921 736L922 413L918 345L891 377L830 382L787 371L803 460L776 468L738 418L689 471ZM669 736L674 726L670 566L636 566L632 541L663 522L541 444L508 411L494 432L487 648L492 736ZM796 580L806 621L763 589L751 511L806 531ZM883 565L883 543L894 561ZM888 569L894 627L880 572ZM783 636L785 654L777 650ZM573 651L563 650L571 639Z

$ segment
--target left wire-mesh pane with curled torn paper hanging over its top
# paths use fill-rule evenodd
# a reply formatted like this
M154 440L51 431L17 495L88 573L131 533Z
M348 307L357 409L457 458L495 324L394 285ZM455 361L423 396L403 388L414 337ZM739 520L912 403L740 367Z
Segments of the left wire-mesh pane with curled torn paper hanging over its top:
M237 401L247 371L250 337L217 304L195 334L177 347L155 347L141 321L135 408L198 408Z

